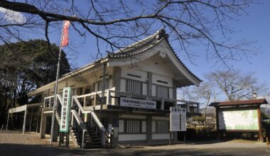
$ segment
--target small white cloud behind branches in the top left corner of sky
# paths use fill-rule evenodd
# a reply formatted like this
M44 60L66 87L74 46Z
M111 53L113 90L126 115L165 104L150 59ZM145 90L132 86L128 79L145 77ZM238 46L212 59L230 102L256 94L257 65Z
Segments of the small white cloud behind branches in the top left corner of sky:
M0 18L2 16L4 16L4 18L11 23L21 24L26 21L26 18L23 16L23 13L11 11L9 9L4 9L0 7Z

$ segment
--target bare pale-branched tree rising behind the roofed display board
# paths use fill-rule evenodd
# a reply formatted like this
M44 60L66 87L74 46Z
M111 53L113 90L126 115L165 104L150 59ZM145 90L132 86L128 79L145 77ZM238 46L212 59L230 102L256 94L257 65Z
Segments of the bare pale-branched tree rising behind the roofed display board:
M254 72L243 73L239 70L217 70L207 74L206 78L217 85L229 101L252 99L252 94L259 96L268 91L264 83L259 83Z

